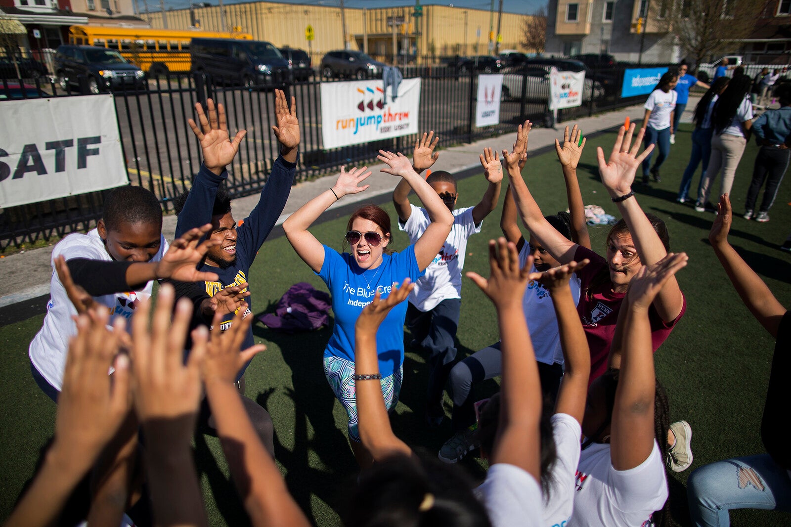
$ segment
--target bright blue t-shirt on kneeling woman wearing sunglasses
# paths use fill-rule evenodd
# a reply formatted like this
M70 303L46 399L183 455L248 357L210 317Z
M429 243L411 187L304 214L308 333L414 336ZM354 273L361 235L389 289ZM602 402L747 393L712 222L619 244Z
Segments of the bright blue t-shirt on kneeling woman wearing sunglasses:
M354 324L362 309L373 301L377 290L382 298L387 298L393 282L402 283L406 278L414 282L423 272L414 256L414 245L402 252L383 254L379 267L365 271L348 252L339 254L324 245L324 264L316 274L327 284L335 312L335 325L324 348L324 356L354 361ZM379 327L377 354L382 377L392 375L403 363L403 322L406 317L407 302L403 301L391 309Z

